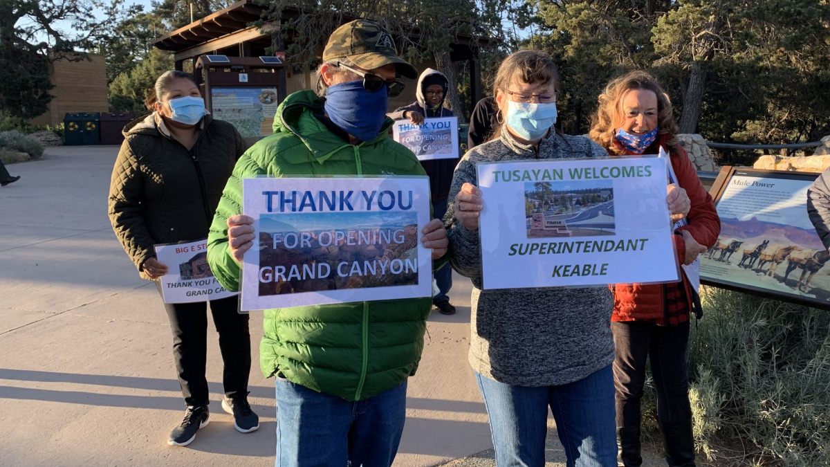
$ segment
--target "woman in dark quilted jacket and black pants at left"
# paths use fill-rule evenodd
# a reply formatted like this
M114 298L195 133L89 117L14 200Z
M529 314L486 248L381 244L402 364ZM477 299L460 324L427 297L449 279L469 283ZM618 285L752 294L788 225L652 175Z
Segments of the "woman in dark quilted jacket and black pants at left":
M176 264L156 258L154 245L207 238L222 189L247 149L230 123L213 120L193 76L165 71L146 104L149 116L124 130L110 183L109 214L121 246L141 278L155 281ZM212 274L211 274L212 275ZM187 406L182 423L170 432L168 445L186 446L209 420L207 377L207 305L222 353L222 409L233 415L234 428L249 433L259 417L247 401L251 373L248 316L237 311L238 299L165 303L173 332L173 362Z

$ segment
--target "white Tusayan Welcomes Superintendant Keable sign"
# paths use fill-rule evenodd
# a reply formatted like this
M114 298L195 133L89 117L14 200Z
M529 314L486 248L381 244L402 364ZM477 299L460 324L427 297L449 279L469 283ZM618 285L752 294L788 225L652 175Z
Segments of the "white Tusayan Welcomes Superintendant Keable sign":
M484 288L677 282L666 161L477 165Z

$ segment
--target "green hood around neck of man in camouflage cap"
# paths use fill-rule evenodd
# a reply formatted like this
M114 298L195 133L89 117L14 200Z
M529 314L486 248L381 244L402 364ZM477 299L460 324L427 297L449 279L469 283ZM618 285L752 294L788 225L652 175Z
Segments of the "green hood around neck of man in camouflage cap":
M276 108L274 116L274 134L289 133L295 135L310 150L315 159L322 164L331 155L349 145L338 135L334 135L320 120L314 116L315 113L325 112L325 97L320 97L314 91L296 91L282 101ZM378 136L371 141L364 141L359 145L368 145L387 138L389 128L395 122L386 117Z

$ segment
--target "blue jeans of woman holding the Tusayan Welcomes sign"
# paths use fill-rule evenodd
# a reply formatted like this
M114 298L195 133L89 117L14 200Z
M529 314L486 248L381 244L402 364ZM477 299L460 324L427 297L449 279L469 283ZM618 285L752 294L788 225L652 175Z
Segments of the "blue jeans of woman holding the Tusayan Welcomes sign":
M548 407L568 467L617 466L610 365L562 386L511 386L477 372L476 379L490 416L499 467L544 465Z

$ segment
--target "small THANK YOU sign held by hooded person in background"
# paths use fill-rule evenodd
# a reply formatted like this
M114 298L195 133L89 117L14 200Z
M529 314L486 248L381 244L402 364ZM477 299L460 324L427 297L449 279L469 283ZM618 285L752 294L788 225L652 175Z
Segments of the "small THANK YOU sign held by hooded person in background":
M458 118L427 118L421 125L398 120L393 139L406 146L418 160L458 159Z

